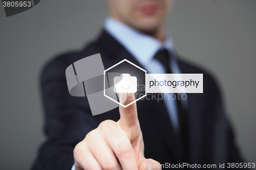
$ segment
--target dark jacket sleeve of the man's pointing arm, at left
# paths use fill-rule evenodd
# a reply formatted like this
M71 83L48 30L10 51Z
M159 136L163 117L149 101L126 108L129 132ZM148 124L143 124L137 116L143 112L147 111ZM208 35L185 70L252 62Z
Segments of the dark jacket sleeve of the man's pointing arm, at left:
M42 71L41 94L45 109L47 140L32 169L71 169L73 150L88 132L98 126L87 98L69 94L65 70L72 62L58 57Z

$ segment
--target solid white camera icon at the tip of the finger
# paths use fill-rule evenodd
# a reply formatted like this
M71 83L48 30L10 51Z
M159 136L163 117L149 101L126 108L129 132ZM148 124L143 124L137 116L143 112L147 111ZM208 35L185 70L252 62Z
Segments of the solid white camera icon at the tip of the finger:
M135 93L137 91L137 77L130 74L121 74L114 77L114 92Z

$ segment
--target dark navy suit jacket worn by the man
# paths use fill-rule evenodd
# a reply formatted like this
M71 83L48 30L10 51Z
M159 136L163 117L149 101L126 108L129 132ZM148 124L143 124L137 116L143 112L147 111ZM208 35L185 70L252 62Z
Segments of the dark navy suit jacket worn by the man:
M119 119L118 108L92 116L86 97L74 97L69 94L66 68L77 60L97 53L100 53L105 68L124 58L142 67L105 31L84 50L61 55L50 61L41 75L47 140L40 147L32 169L70 170L74 163L75 145L103 120ZM204 74L204 93L187 94L189 163L215 163L219 167L219 163L243 162L226 119L216 81L204 69L181 59L179 66L182 73ZM175 134L163 101L138 101L137 108L145 144L145 157L153 158L161 164L182 163L177 147L179 143L174 140Z

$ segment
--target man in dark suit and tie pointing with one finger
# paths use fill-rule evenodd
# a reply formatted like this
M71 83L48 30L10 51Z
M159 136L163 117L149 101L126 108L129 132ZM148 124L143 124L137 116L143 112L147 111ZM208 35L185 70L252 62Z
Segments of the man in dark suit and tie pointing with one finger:
M174 50L165 28L172 4L108 0L110 16L99 37L82 51L61 55L45 66L41 92L47 141L33 169L146 170L177 168L179 163L219 168L220 163L244 162L216 81ZM98 53L105 69L126 58L150 73L203 74L204 93L187 94L183 101L147 97L151 100L92 116L87 98L69 94L65 70ZM124 103L135 100L129 95L133 97ZM162 166L166 163L170 166Z

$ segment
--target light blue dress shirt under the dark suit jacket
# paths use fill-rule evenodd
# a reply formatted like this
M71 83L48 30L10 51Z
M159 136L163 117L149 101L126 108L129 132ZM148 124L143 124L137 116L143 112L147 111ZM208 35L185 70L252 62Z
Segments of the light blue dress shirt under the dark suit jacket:
M154 59L154 56L162 48L165 48L169 53L172 52L175 54L173 39L170 35L161 43L157 39L124 25L112 17L106 18L104 29L135 57L145 68L147 73L166 73L163 65L158 60ZM180 73L175 56L171 58L169 64L173 73ZM177 133L179 132L179 120L176 102L169 98L169 100L164 100L164 104L168 111L173 129ZM75 170L74 165L71 170Z

